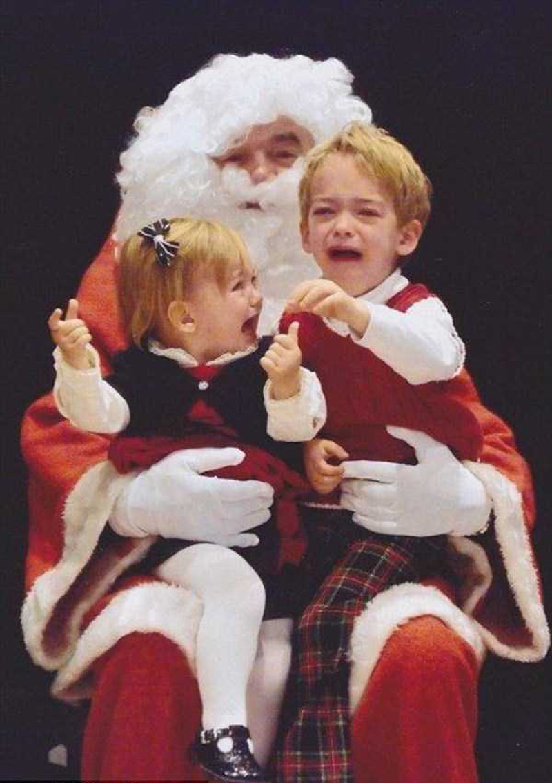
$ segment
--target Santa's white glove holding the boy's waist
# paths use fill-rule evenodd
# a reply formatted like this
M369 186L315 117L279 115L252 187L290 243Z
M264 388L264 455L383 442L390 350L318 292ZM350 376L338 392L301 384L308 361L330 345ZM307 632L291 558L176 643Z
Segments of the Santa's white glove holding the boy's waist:
M424 432L386 428L412 446L417 465L343 462L341 504L353 521L394 536L471 536L485 529L491 502L478 478Z

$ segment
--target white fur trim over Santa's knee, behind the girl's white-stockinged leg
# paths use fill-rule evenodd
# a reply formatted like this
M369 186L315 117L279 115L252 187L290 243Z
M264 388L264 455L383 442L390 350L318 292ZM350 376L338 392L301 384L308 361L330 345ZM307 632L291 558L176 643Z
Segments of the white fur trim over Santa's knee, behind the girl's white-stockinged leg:
M195 673L195 636L203 604L183 587L146 583L124 591L92 620L73 657L52 684L52 696L77 702L90 696L86 672L91 664L129 633L162 633L185 654Z

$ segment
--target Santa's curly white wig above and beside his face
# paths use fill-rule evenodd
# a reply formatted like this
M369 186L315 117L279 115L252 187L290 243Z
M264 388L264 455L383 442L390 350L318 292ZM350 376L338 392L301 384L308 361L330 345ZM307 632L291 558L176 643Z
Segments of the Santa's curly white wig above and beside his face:
M371 121L353 96L353 75L335 58L218 55L182 81L156 109L143 109L120 157L122 204L116 234L124 241L157 218L221 218L228 199L212 157L255 124L289 117L318 143L349 121Z

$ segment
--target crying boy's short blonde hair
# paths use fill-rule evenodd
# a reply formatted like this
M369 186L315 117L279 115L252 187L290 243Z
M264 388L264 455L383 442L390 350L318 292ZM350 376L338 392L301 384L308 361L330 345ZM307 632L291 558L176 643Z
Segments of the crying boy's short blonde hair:
M383 128L360 122L346 125L331 139L315 146L306 156L305 171L299 184L301 224L306 226L314 175L328 155L351 155L362 171L389 193L399 226L410 220L421 222L422 229L431 211L432 186L407 147Z

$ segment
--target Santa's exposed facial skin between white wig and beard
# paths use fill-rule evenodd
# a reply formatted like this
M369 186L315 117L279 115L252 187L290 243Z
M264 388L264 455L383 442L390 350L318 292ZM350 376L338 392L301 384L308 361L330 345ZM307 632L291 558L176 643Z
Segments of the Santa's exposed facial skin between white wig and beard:
M258 185L291 168L313 145L314 139L306 128L289 117L278 117L274 122L253 125L242 139L213 160L220 168L241 168L249 174L253 185Z

